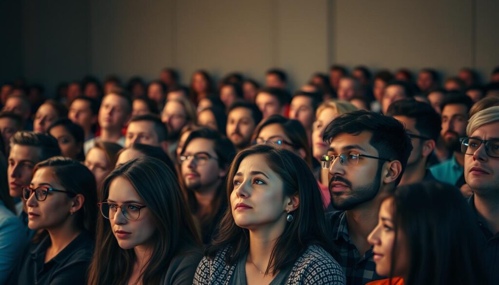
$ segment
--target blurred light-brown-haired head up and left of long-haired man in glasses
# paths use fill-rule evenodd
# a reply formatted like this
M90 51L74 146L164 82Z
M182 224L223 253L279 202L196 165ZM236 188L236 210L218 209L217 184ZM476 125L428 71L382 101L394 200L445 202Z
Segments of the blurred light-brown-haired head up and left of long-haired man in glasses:
M177 140L185 125L197 122L196 109L186 99L168 100L161 113L161 121L168 129L169 140Z

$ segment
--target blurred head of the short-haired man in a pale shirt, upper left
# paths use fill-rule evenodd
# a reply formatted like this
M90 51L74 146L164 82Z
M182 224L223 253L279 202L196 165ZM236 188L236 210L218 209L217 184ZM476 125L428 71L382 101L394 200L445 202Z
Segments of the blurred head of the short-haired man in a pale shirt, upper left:
M99 108L98 121L102 129L121 130L132 115L132 101L123 89L113 89L104 96Z

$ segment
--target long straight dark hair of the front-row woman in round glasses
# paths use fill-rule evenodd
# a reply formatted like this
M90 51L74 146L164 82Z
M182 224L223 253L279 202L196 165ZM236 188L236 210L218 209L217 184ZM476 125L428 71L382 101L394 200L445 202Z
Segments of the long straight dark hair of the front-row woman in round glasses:
M152 157L133 159L116 168L104 180L100 201L106 201L109 185L117 178L127 179L151 211L156 233L154 250L139 279L142 284L159 284L172 258L181 249L199 244L194 223L173 172ZM89 285L125 284L135 261L133 249L121 249L109 221L97 219L96 248L89 270Z

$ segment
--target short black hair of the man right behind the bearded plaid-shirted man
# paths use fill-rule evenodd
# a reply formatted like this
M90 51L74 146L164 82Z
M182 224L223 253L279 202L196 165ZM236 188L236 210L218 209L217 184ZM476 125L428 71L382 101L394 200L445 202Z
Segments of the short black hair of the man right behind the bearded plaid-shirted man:
M442 130L440 115L425 102L406 98L393 102L388 107L387 116L405 116L416 120L416 129L421 135L437 141Z

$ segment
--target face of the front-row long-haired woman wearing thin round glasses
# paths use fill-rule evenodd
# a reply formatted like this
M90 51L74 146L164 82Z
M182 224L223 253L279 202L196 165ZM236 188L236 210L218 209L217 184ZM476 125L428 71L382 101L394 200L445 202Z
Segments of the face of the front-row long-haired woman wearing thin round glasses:
M108 211L109 223L120 248L147 248L156 232L154 217L130 181L114 178L109 184L107 202L112 204ZM122 208L124 203L125 209Z

